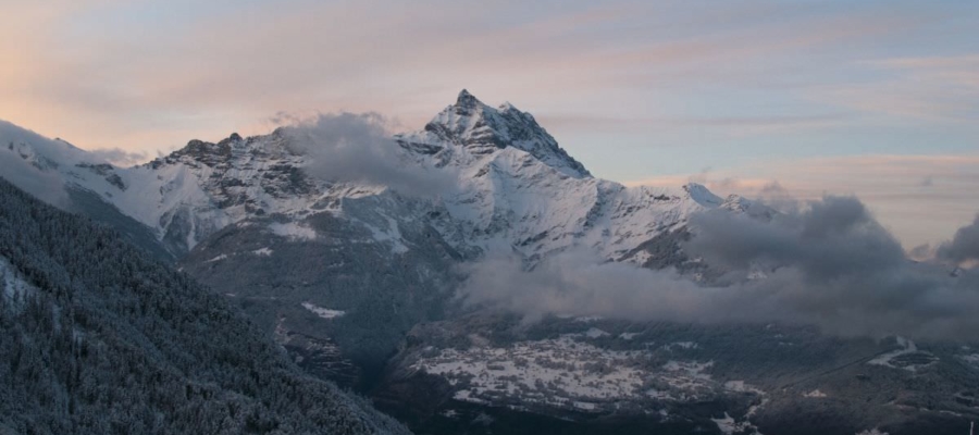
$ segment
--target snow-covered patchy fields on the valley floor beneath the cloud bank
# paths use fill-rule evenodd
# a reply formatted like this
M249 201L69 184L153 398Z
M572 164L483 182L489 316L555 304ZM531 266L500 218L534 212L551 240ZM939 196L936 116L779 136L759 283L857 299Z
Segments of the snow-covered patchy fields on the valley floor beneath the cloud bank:
M710 361L656 365L644 351L602 349L580 340L602 336L598 332L507 347L429 348L412 369L445 377L458 388L459 400L519 400L585 411L620 400L694 400L721 388L708 373Z

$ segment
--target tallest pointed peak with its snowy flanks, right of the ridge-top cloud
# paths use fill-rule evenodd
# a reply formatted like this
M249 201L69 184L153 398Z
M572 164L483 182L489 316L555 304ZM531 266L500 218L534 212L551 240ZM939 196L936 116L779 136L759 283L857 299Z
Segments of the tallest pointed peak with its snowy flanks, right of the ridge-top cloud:
M397 136L408 150L459 171L462 188L443 198L466 243L528 259L586 246L611 260L684 225L694 212L746 204L697 184L634 187L593 177L534 117L492 108L463 90L424 130Z

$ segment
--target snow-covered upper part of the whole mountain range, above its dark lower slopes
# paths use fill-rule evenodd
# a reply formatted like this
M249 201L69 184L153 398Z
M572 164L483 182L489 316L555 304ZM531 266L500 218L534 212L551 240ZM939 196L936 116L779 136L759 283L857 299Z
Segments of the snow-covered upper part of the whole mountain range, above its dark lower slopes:
M528 259L572 246L611 260L642 263L636 248L684 225L691 213L743 208L740 197L719 198L701 185L627 188L593 177L534 117L506 103L484 104L468 91L424 129L396 135L408 164L429 164L457 176L458 190L417 201L386 186L309 176L310 157L290 146L285 129L186 147L133 167L115 167L60 140L7 124L0 139L7 160L61 178L148 227L174 256L189 252L218 231L248 219L276 216L276 234L314 237L302 220L320 212L349 217L345 204L384 198L391 222L365 223L375 240L406 247L398 226L431 221L460 252L512 250ZM382 201L382 202L384 202ZM412 213L406 213L407 209ZM443 215L444 213L444 215ZM426 216L438 215L439 219ZM357 220L355 217L355 220Z

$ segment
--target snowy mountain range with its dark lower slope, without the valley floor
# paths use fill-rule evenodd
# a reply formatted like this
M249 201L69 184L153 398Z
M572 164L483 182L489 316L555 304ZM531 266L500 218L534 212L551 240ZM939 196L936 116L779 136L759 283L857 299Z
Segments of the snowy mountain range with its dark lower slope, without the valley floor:
M399 164L448 177L454 188L444 192L401 195L312 171L334 157L308 152L301 128L191 140L124 169L7 125L0 163L64 186L69 206L55 203L175 257L292 351L318 343L323 358L298 362L319 361L317 370L338 381L363 377L344 369L350 360L379 372L411 327L456 312L459 264L516 256L532 266L581 249L693 268L679 248L690 215L752 207L695 184L627 188L595 178L532 115L464 90L424 129L386 144ZM345 314L319 318L307 304Z

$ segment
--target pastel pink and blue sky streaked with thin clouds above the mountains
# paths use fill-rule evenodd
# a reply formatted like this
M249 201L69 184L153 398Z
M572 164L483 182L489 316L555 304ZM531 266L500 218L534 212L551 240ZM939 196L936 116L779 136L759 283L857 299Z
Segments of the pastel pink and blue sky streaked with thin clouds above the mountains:
M0 119L125 163L469 89L596 176L856 195L910 248L979 212L976 1L0 0Z

